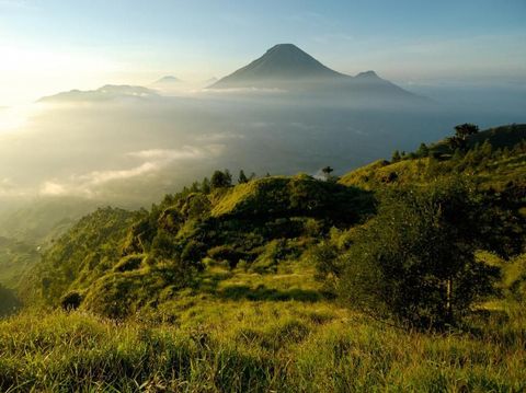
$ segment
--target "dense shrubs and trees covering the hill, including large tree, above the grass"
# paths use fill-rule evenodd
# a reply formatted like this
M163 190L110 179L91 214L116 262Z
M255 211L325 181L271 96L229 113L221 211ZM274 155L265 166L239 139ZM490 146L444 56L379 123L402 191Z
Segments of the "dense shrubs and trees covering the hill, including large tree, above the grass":
M324 180L241 171L236 186L225 170L149 211L99 209L55 242L22 293L127 317L196 288L215 263L272 274L306 257L354 308L419 326L454 324L493 289L496 273L476 252L508 258L524 250L526 145L493 149L494 132L470 143L484 132L460 125L461 152L422 143L340 183L331 166Z

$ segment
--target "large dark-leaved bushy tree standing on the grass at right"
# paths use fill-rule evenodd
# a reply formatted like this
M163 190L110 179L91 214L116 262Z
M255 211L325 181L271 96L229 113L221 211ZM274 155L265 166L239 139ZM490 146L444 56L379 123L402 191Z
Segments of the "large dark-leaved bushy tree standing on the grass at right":
M498 276L474 258L483 212L461 181L387 192L378 216L354 235L339 293L352 307L404 325L458 322L491 293Z

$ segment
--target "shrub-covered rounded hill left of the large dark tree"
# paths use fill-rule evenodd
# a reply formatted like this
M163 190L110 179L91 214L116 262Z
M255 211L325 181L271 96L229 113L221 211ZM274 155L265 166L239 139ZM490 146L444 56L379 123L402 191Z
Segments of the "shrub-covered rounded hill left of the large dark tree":
M150 212L99 209L55 242L22 293L52 305L78 294L82 308L123 317L195 287L207 263L274 273L371 211L368 193L307 175L169 195Z

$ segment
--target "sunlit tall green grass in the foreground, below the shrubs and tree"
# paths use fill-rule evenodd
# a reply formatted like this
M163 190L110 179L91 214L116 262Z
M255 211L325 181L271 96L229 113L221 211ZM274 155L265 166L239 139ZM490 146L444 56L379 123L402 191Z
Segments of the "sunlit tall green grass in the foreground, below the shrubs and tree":
M494 302L464 333L408 333L325 299L312 274L301 262L272 275L215 264L176 299L121 323L25 311L0 321L0 391L526 389L523 308ZM295 290L317 296L278 296Z

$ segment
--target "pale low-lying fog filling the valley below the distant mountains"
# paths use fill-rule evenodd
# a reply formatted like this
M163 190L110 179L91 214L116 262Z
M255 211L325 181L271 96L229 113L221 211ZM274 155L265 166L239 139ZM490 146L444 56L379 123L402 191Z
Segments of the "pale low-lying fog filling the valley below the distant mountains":
M235 178L240 169L313 174L331 165L344 173L443 138L458 123L526 122L524 90L414 91L434 102L397 107L284 91L208 91L79 100L73 93L0 108L0 198L4 207L46 196L148 206L215 169L228 167Z

